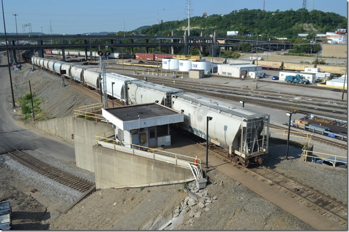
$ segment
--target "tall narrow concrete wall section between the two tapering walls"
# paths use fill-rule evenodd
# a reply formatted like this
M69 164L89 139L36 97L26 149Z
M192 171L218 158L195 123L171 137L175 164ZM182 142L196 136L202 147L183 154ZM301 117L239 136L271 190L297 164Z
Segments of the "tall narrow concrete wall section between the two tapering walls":
M73 117L74 148L76 167L94 171L93 145L96 145L95 135L112 130L112 124L90 121Z

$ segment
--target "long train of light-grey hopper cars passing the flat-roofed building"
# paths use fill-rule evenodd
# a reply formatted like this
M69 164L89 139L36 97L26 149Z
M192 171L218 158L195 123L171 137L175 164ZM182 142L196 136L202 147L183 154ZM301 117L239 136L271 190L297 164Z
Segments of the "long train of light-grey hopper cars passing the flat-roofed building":
M32 57L31 61L90 89L104 89L101 88L103 76L100 69L38 57ZM116 73L106 74L106 91L124 105L158 103L182 112L184 122L177 126L204 139L207 117L212 117L209 141L226 149L232 162L244 167L252 163L262 164L262 155L268 153L268 114Z

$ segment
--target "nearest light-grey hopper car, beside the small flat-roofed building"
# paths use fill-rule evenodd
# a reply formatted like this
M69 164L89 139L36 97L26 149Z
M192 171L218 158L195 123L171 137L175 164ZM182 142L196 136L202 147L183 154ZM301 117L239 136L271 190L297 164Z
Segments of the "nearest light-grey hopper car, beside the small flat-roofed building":
M179 126L226 150L233 163L244 167L262 164L262 155L268 153L270 116L247 111L234 105L212 101L192 93L177 93L172 108L183 112L184 122Z

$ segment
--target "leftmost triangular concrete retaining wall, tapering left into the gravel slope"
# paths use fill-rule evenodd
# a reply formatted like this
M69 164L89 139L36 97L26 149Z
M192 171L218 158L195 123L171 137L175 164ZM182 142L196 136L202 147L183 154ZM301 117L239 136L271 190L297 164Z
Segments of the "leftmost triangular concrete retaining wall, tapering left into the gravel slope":
M65 116L44 121L34 121L30 124L66 141L74 142L74 140L71 139L71 134L74 133L72 118L73 116Z

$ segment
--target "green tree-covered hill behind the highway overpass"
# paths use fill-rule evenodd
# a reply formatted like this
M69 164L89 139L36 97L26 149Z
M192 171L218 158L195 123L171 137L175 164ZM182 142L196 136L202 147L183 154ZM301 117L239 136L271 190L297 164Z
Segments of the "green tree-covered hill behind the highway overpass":
M169 21L148 27L141 27L133 32L144 35L167 35L173 31L175 35L183 35L187 31L187 19ZM227 31L238 31L237 38L247 36L262 40L285 37L295 39L298 33L326 33L338 28L347 28L347 18L333 12L306 9L286 11L263 11L260 9L234 10L226 15L213 14L207 17L190 18L190 35L209 36L214 31L219 37L227 35ZM121 32L120 32L121 33ZM252 35L253 34L253 35Z

